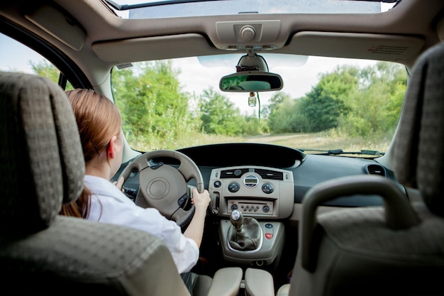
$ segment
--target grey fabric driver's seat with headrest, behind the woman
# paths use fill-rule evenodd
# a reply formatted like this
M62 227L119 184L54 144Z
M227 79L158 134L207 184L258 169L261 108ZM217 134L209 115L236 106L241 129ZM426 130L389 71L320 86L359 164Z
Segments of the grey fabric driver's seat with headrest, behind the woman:
M57 84L0 72L0 113L3 295L189 295L156 236L58 214L79 196L85 169L74 114ZM241 278L239 269L221 275Z

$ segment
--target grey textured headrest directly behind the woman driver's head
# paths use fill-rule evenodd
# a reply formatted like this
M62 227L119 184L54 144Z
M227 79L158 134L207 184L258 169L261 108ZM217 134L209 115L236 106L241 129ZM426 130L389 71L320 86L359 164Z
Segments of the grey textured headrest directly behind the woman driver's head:
M0 231L50 226L83 187L84 158L65 92L35 75L0 72Z

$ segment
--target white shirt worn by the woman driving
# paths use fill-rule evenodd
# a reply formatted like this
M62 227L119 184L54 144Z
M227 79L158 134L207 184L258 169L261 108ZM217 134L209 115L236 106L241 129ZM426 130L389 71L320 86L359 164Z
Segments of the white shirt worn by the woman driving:
M199 259L199 247L182 234L176 222L155 208L139 207L118 188L101 177L85 175L84 185L91 191L88 220L123 225L159 237L170 249L179 273L193 268Z

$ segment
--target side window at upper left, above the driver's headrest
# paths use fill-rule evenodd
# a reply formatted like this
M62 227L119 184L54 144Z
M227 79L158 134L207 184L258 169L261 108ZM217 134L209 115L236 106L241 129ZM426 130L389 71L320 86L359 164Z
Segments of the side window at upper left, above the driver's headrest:
M45 57L3 33L0 33L0 71L40 75L55 83L60 77L60 71ZM73 89L70 82L65 89Z

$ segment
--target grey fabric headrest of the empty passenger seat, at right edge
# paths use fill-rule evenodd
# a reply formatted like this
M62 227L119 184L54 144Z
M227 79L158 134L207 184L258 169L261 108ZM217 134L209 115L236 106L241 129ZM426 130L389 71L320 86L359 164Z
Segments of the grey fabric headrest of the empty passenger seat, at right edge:
M444 43L414 66L392 148L399 182L420 190L431 212L444 216Z

